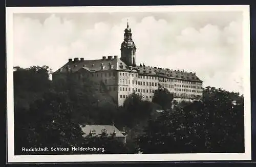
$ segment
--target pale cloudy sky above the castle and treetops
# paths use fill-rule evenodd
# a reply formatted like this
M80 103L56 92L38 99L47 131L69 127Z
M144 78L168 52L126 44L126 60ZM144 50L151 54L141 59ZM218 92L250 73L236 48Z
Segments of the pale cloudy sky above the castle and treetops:
M14 66L120 58L127 19L137 65L196 72L203 87L243 94L242 12L14 14Z

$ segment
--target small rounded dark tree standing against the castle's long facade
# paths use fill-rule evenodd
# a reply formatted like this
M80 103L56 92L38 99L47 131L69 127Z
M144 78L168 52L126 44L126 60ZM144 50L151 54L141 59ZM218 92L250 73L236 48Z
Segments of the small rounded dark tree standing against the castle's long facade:
M161 85L155 91L152 102L159 104L163 109L172 108L173 94Z

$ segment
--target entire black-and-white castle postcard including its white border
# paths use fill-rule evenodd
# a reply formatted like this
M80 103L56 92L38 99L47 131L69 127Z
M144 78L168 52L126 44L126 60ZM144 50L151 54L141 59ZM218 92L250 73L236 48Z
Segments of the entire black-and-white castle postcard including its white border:
M250 160L249 6L7 8L9 162Z

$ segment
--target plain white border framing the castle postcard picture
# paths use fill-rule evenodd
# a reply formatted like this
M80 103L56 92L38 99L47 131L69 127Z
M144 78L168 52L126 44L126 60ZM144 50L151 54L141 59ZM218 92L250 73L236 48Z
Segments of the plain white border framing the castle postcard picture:
M84 12L243 12L243 57L245 99L245 153L205 154L106 154L106 155L14 155L13 102L13 14L14 13L84 13ZM251 160L250 102L250 19L249 5L225 6L120 6L120 7L19 7L6 8L7 35L7 162L108 162L108 161L187 161L187 160Z

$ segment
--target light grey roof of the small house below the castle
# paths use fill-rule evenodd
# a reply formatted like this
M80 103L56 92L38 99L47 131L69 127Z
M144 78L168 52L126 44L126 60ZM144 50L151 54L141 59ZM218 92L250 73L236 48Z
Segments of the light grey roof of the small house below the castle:
M81 127L82 131L86 133L86 135L90 134L90 132L94 131L95 135L101 134L102 130L105 129L106 133L109 135L113 132L116 133L116 137L124 137L122 132L118 130L114 125L86 125L84 127Z

